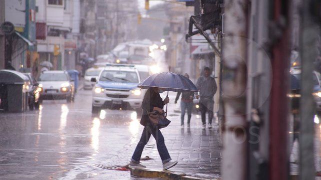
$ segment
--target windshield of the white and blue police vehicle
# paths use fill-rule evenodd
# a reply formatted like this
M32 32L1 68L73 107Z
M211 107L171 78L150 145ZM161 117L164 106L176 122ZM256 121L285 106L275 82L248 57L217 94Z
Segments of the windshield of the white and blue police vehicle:
M99 81L138 83L138 76L136 72L105 70L102 71Z

